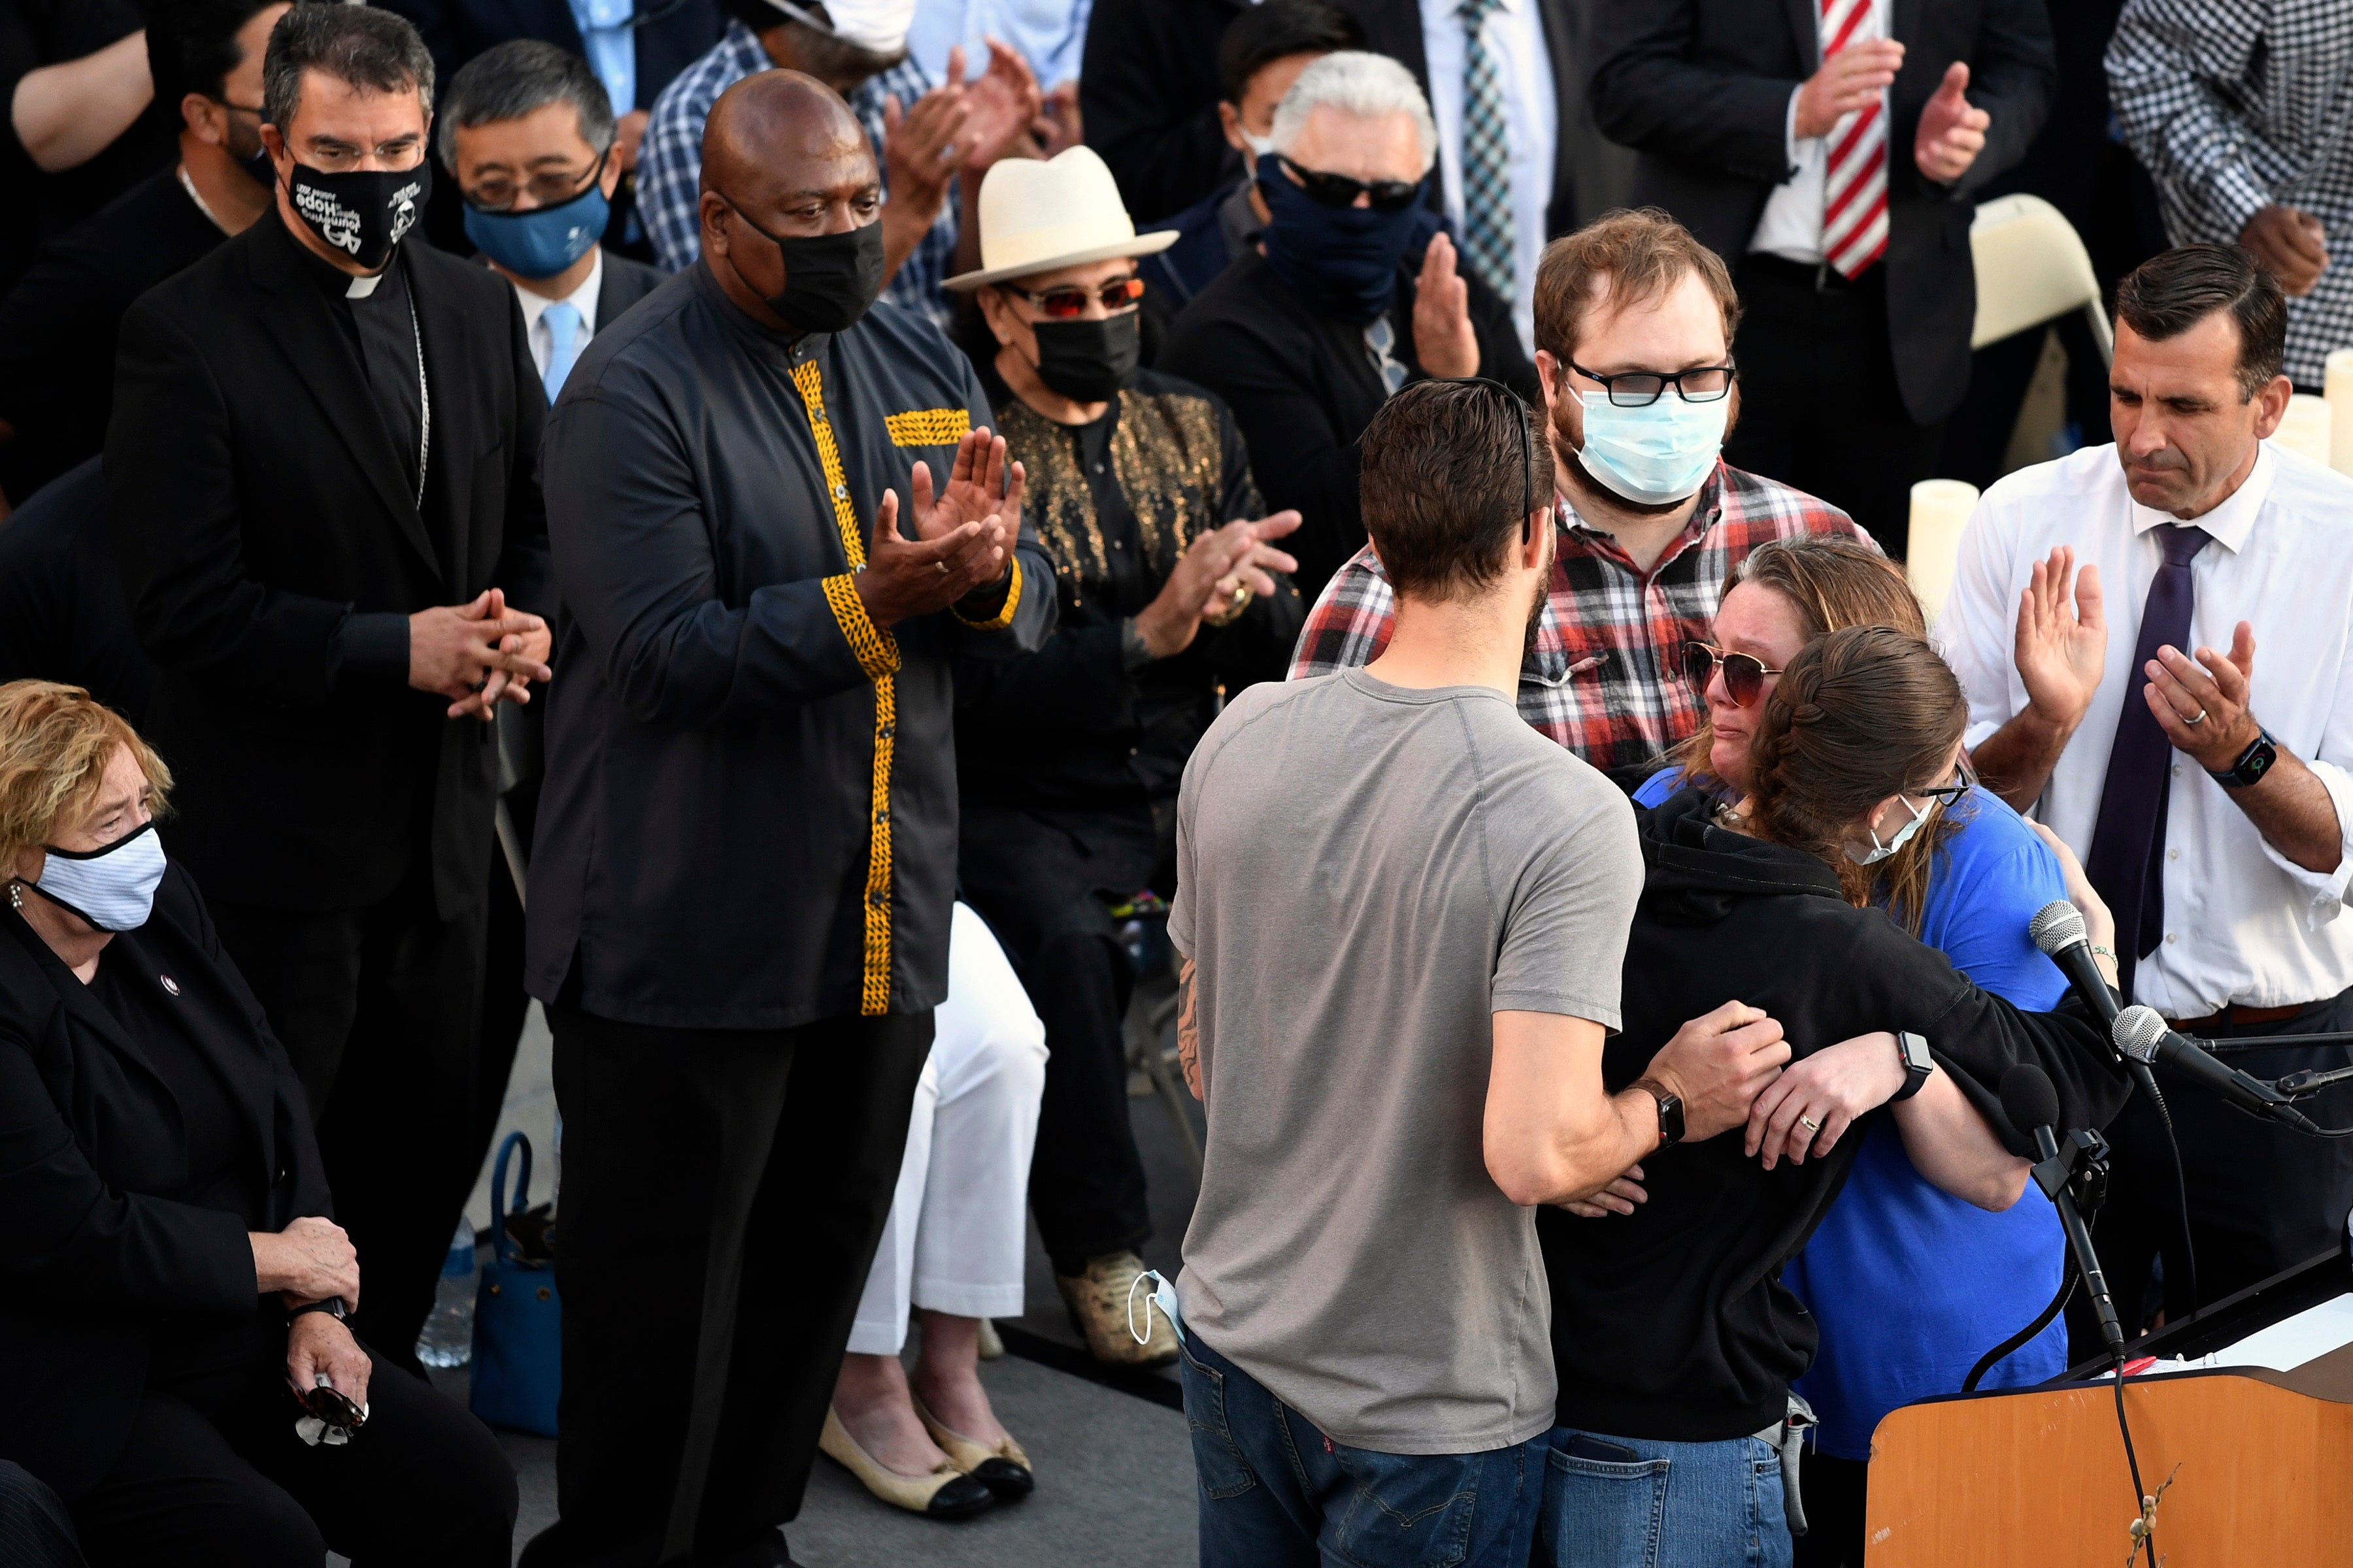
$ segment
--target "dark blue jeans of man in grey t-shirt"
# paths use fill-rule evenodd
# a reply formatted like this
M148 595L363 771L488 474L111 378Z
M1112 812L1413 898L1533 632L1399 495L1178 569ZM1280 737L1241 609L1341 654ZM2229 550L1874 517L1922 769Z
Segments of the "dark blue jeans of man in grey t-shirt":
M1348 1448L1200 1335L1186 1335L1179 1371L1202 1568L1527 1568L1546 1439L1489 1453Z

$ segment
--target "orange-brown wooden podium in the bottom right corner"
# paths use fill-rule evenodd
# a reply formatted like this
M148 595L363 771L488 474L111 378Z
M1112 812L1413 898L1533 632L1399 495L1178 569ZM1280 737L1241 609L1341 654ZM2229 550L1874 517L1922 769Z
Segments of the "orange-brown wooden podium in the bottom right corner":
M2348 1321L2346 1253L2315 1258L2144 1335L2129 1354L2231 1359L2271 1326L2334 1335ZM2278 1354L2278 1335L2271 1352ZM2294 1359L2287 1352L2285 1359ZM2073 1368L2033 1389L1958 1394L1892 1410L1871 1439L1868 1568L2122 1568L2132 1472L2115 1387ZM2353 1561L2353 1345L2292 1371L2219 1366L2125 1382L2125 1413L2155 1490L2169 1568ZM2146 1561L2146 1559L2144 1559Z

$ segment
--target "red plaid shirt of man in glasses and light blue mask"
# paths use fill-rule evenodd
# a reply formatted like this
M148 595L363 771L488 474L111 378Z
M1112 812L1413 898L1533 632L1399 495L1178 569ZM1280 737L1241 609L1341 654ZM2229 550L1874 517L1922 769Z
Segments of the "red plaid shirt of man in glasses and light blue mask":
M1871 536L1826 501L1727 463L1699 491L1689 527L1649 576L1562 496L1560 552L1537 639L1520 665L1520 717L1598 769L1649 762L1699 729L1682 644L1708 642L1725 576L1769 538ZM1372 663L1388 646L1395 595L1372 545L1325 585L1292 651L1292 679Z

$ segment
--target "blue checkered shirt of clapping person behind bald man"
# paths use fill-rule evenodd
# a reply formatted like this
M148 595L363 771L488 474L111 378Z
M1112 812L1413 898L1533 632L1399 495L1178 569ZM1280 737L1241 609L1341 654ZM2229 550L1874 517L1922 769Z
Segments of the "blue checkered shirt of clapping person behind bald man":
M661 89L645 122L645 143L638 150L638 214L647 233L654 235L654 259L664 270L678 273L704 254L701 179L704 179L704 120L720 94L746 75L774 71L776 63L760 47L760 35L741 21L729 21L727 33L699 61L678 73ZM875 143L875 165L882 162L882 99L896 94L899 108L913 108L915 99L932 92L936 82L913 56L892 66L882 75L859 82L849 94L866 136ZM885 174L885 200L889 176ZM918 244L892 275L882 299L906 310L918 310L941 327L951 322L951 301L939 289L939 280L955 266L955 186L939 207Z

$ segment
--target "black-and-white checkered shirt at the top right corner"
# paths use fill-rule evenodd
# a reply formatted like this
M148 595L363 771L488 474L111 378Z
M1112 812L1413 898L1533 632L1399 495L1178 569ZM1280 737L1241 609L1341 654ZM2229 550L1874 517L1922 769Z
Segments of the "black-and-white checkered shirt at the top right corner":
M2174 244L2231 244L2282 202L2327 226L2329 266L2287 301L2287 374L2353 348L2353 14L2346 0L2129 0L2108 101Z

